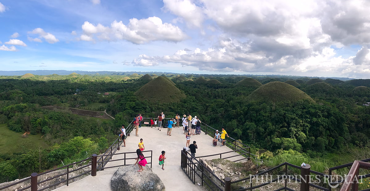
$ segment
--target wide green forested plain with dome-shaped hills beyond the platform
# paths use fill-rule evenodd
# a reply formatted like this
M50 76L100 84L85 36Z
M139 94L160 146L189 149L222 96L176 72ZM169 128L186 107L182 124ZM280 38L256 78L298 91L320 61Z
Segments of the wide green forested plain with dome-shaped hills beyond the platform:
M150 118L161 111L166 117L190 113L213 128L224 127L271 166L304 159L332 167L366 159L369 87L370 79L276 75L0 76L0 129L9 133L0 140L0 181L101 153L121 124L138 113ZM106 110L115 119L46 106ZM34 145L22 144L26 139Z

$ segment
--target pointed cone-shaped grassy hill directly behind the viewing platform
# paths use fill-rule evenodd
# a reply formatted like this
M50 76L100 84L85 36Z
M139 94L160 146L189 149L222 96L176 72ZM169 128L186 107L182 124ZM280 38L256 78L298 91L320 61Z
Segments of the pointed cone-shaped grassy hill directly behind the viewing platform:
M186 95L182 93L171 80L163 76L149 81L134 94L142 101L147 100L149 103L175 103L180 102Z

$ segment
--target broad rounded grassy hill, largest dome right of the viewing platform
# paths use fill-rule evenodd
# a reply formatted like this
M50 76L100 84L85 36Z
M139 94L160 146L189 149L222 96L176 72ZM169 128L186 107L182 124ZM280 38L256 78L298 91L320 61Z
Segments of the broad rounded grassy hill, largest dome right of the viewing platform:
M290 103L298 100L309 100L312 98L299 90L298 88L280 81L273 81L264 84L253 91L249 96L251 100L274 102L274 103Z

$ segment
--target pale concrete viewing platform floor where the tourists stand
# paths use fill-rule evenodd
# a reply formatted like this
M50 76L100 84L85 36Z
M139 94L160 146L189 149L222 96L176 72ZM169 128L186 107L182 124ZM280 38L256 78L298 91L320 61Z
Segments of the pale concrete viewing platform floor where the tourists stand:
M117 150L116 153L124 152L136 152L138 149L138 143L140 138L143 139L145 150L153 151L152 158L152 171L158 175L159 178L163 181L167 191L200 191L205 190L204 187L198 186L198 184L193 184L191 180L186 176L184 171L181 169L181 150L186 146L186 138L183 134L182 126L179 128L172 128L172 136L167 136L167 128L162 128L162 131L159 131L157 128L151 128L142 126L139 128L139 137L135 136L135 129L131 132L131 136L128 136L126 139L126 147L120 147L120 150ZM216 153L229 152L230 149L227 146L217 146L213 147L211 136L205 135L204 132L201 135L192 135L190 143L193 143L195 140L198 146L196 150L196 156L205 156ZM122 143L123 145L123 143ZM158 165L158 158L161 155L161 151L166 152L164 169L162 170L162 165ZM150 152L143 153L145 157L150 155ZM222 154L222 157L233 156L235 152L228 154ZM112 160L123 158L123 154L115 155L112 157ZM137 155L127 154L126 158L134 158ZM211 160L219 158L219 155L206 157L205 159ZM232 157L230 160L242 159L242 156ZM127 160L127 164L134 164L136 160ZM151 159L147 158L148 163ZM244 160L243 160L244 161ZM117 166L124 163L124 160L108 162L105 167ZM150 164L147 164L150 167ZM137 165L136 165L137 167ZM75 190L92 190L92 191L101 191L101 190L111 190L110 181L117 171L118 167L111 169L105 169L97 171L95 177L87 176L81 180L70 183L69 186L62 186L55 190L57 191L75 191ZM137 167L139 169L139 167ZM140 173L140 172L138 172Z

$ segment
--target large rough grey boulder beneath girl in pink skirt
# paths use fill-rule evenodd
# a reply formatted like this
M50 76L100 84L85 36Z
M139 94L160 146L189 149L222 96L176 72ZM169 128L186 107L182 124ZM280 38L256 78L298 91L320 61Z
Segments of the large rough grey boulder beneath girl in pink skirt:
M163 191L165 186L162 180L153 173L148 166L137 172L138 166L129 165L120 167L111 178L112 191Z

